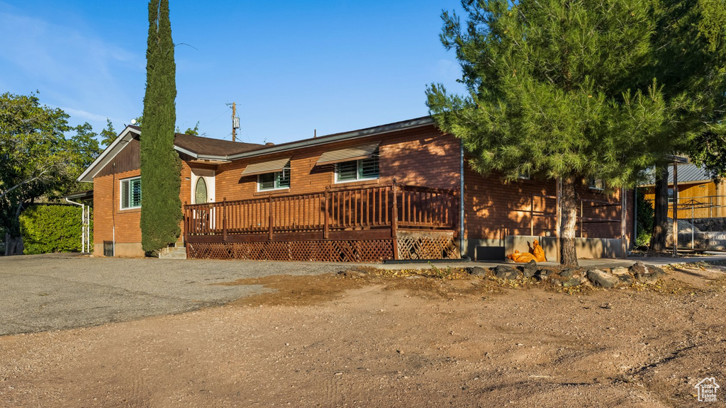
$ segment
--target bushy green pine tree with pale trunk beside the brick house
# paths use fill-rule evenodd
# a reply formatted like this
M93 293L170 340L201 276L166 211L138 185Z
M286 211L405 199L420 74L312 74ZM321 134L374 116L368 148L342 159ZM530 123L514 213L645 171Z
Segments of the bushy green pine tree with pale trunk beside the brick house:
M576 186L592 178L633 186L664 153L660 87L633 80L648 78L652 9L629 0L462 6L467 24L444 12L441 41L455 50L469 94L432 84L428 107L441 129L462 139L481 174L560 180L560 262L576 265Z

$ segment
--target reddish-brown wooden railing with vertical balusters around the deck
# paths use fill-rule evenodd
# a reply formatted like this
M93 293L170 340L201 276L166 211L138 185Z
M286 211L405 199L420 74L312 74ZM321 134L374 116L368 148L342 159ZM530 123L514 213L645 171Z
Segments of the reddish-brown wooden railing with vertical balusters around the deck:
M388 184L298 195L184 205L187 236L274 234L360 229L456 229L455 190Z

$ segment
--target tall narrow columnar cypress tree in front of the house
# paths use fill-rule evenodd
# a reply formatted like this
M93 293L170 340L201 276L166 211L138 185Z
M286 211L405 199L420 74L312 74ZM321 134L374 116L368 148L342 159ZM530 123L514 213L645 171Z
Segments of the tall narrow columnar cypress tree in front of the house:
M152 253L176 241L181 221L181 162L174 151L176 64L168 0L149 2L146 60L141 231L142 247Z

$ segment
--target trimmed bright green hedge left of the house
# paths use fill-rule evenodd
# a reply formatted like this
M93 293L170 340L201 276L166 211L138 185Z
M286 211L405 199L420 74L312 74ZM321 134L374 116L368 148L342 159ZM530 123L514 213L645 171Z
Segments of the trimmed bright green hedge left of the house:
M25 254L79 252L81 207L33 205L20 214L20 233Z

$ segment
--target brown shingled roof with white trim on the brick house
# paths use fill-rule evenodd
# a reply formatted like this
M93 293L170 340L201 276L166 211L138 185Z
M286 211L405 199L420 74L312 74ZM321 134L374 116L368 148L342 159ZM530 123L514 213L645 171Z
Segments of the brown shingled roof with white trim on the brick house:
M189 134L176 134L174 136L174 149L197 160L228 162L231 160L252 158L270 153L286 152L288 150L295 150L302 147L317 146L378 134L386 134L392 131L430 126L433 123L434 121L431 116L423 116L422 118L409 119L408 121L388 123L386 125L362 128L355 131L329 134L313 137L311 139L298 140L296 142L272 145L229 142L227 140L211 139L208 137L192 136ZM106 148L106 150L104 150L101 155L99 155L99 157L91 163L91 166L86 168L86 171L83 171L83 174L78 177L78 181L92 182L94 176L96 176L102 168L110 163L115 155L118 155L118 152L121 152L123 147L125 147L126 144L134 138L134 136L140 136L141 133L141 128L139 128L139 126L126 126L126 128L121 131L121 134L118 134L116 139Z

